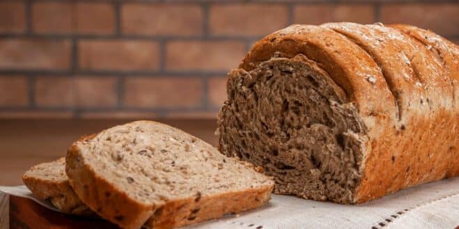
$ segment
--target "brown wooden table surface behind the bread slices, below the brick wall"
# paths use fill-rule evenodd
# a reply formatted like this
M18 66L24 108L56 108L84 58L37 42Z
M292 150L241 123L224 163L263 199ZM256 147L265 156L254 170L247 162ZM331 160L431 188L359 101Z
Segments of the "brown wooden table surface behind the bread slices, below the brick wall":
M0 120L0 185L20 185L31 166L66 155L68 146L83 134L131 120ZM167 123L216 145L216 120L164 119ZM8 198L0 194L0 229L8 225Z

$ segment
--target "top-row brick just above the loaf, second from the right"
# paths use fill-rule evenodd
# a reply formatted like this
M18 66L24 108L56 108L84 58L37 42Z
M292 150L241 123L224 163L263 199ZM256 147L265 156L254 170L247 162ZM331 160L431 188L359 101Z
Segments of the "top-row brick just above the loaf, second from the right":
M375 10L368 4L307 4L294 8L294 23L324 24L327 22L373 23Z

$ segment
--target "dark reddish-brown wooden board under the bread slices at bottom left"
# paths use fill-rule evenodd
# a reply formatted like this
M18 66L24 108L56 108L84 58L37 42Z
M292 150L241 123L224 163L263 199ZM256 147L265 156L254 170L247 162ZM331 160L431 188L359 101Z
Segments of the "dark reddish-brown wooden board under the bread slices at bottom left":
M10 196L10 229L118 228L103 219L88 219L54 212L27 198Z

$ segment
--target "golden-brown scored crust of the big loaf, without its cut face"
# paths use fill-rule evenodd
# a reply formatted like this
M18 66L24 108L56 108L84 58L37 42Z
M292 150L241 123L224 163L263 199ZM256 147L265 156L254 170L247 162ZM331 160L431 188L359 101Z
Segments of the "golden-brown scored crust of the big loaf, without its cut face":
M457 51L456 45L435 42ZM445 65L420 42L382 25L293 25L255 43L239 68L252 70L272 57L297 54L329 73L368 129L354 203L458 175L459 163L451 163L459 158L454 102L459 92L450 83L456 75L446 77ZM459 68L458 58L444 59L449 72ZM367 74L377 84L365 82Z

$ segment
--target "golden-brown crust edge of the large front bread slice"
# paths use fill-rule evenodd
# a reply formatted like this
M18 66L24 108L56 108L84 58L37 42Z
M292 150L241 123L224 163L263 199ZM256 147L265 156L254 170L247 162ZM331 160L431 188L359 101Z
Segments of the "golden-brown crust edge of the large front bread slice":
M137 121L127 125L145 123L162 125L151 121ZM167 126L167 128L172 127ZM176 131L179 130L176 129ZM154 205L145 204L134 200L126 194L126 191L114 187L114 184L89 166L87 163L89 158L82 157L79 144L91 141L96 136L80 139L70 146L66 157L66 173L70 179L70 186L82 201L91 210L121 228L140 228L144 223L146 228L174 228L215 219L227 213L251 210L266 203L273 189L273 182L269 181L262 187L243 191L229 190L206 196L197 193L188 198L164 199ZM245 161L238 163L253 167ZM259 170L259 168L254 169ZM266 179L269 180L269 177Z

